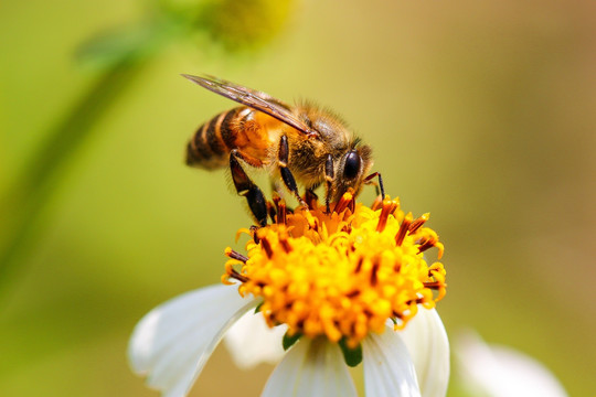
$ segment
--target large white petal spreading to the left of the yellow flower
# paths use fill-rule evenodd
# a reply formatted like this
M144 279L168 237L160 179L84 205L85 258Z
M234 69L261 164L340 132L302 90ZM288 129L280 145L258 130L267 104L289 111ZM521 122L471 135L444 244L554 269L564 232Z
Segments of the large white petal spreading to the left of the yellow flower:
M232 286L187 292L151 310L135 328L128 346L130 366L148 375L163 396L184 396L222 334L257 304Z

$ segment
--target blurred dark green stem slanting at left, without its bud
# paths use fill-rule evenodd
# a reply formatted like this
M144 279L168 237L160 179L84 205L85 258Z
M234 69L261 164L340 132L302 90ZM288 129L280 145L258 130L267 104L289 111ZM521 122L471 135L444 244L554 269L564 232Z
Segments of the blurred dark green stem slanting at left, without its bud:
M0 292L7 288L17 265L24 260L44 228L42 217L76 150L146 63L147 60L139 57L125 57L103 72L62 121L45 133L45 142L17 178L15 186L3 197L2 206L11 213L4 214L2 221L7 229L0 247Z

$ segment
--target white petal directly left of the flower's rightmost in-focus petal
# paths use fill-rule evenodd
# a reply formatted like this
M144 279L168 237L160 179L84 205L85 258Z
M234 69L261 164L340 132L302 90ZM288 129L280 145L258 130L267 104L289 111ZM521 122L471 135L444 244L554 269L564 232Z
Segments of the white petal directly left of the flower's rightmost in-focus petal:
M393 328L369 334L362 343L366 397L421 395L414 363Z

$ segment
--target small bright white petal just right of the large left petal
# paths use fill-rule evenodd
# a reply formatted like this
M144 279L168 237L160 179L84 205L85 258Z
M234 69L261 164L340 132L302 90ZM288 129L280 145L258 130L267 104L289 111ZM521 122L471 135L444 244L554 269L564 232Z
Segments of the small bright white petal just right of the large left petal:
M234 363L248 369L260 363L277 364L286 352L281 340L286 325L269 328L263 313L249 311L244 314L224 336L224 343Z

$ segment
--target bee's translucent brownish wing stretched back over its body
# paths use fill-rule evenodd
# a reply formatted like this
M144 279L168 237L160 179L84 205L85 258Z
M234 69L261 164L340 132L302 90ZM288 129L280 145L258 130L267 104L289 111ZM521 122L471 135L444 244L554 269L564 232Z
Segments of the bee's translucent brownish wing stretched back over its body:
M308 127L304 121L294 116L288 105L268 94L243 87L213 76L199 77L183 74L182 77L185 77L215 94L235 100L255 110L263 111L264 114L267 114L284 124L296 128L302 133L308 136L319 136L316 130Z

